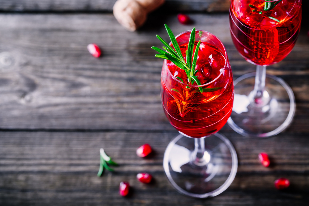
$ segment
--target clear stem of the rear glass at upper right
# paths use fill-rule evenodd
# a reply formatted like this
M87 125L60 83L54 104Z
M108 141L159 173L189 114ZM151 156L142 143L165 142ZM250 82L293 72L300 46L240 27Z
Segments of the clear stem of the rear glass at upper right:
M254 99L260 99L263 97L266 79L266 66L257 65L255 84L254 84Z

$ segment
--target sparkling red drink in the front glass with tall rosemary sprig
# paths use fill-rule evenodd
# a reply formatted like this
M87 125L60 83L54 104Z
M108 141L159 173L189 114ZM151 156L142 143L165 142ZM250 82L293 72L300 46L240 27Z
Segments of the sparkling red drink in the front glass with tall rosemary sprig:
M231 66L223 44L212 34L196 32L197 73L201 86L188 82L183 69L164 60L161 75L161 100L170 123L189 137L205 137L220 130L231 115L234 84ZM176 37L185 59L190 31ZM180 80L181 79L181 80ZM183 81L183 82L182 82ZM201 93L199 87L203 89Z

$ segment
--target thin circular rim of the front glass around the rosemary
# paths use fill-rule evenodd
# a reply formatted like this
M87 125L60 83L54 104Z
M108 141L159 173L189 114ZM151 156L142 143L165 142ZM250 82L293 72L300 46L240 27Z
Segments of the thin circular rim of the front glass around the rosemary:
M184 31L184 32L182 32L182 33L180 33L180 34L178 34L175 38L176 38L176 40L177 40L177 37L179 37L180 35L182 35L182 34L184 34L184 33L188 33L188 32L190 32L191 33L191 31L192 30L187 30L187 31ZM200 30L200 29L196 29L195 30L195 34L196 34L196 32L206 32L206 31L204 31L204 30ZM215 39L217 39L219 42L220 42L220 44L223 46L223 48L224 48L224 54L222 54L223 55L223 57L225 58L225 64L224 64L224 67L223 67L223 70L222 70L222 72L220 72L220 74L218 74L218 76L216 77L216 78L214 78L212 81L210 81L210 82L207 82L206 84L201 84L201 85L189 85L189 84L185 84L185 83L183 83L183 82L181 82L179 79L177 79L172 73L171 73L171 71L168 69L168 67L167 67L167 60L166 59L164 59L164 61L163 61L163 65L165 65L166 67L167 67L167 71L168 71L168 73L171 75L171 77L174 79L174 80L176 80L177 82L179 82L180 84L182 84L182 85L184 85L184 86L190 86L190 87L202 87L202 86L207 86L207 85L210 85L210 84L212 84L212 83L214 83L221 75L222 75L222 73L225 71L225 69L227 68L227 53L226 53L226 48L225 48L225 46L224 46L224 44L222 43L222 41L221 40L219 40L219 38L217 37L217 36L215 36L215 35L213 35L212 33L210 33L210 32L206 32L206 33L208 33L210 36L213 36ZM203 34L201 35L201 36L204 36ZM205 38L207 38L207 39L209 39L208 37L206 37L206 36L204 36ZM210 39L209 39L210 40ZM213 44L212 45L214 45L214 46L216 46L217 48L218 48L218 46L212 41L212 40L210 40ZM170 42L169 43L169 45L171 45L171 43L172 42ZM221 50L221 48L218 48L220 51L222 51Z

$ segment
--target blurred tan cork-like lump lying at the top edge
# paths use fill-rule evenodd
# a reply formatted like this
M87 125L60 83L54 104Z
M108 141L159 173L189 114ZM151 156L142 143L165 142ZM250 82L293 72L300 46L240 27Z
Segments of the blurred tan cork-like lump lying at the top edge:
M164 1L118 0L113 6L113 14L123 27L134 32L145 23L147 14L161 6Z

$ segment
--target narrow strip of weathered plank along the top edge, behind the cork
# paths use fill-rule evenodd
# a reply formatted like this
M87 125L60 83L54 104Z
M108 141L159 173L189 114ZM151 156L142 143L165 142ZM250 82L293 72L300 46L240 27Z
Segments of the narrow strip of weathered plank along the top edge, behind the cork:
M108 11L116 0L0 0L0 11ZM230 0L166 0L161 10L228 11Z

